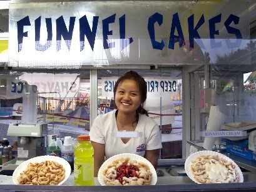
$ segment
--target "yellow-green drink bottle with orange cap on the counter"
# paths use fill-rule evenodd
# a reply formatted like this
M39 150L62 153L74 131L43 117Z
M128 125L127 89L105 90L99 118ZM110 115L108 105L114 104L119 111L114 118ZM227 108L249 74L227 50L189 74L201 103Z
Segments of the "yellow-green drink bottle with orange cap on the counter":
M90 136L79 135L74 147L74 185L94 185L94 149Z

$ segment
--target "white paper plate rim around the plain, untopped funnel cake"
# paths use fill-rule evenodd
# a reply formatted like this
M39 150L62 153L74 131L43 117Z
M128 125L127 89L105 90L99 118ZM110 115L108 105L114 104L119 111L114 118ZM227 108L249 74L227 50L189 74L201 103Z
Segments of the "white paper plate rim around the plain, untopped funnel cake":
M56 161L59 164L62 164L63 168L65 169L65 178L63 179L63 181L59 182L58 185L63 184L64 181L66 181L66 179L68 179L69 175L71 174L71 167L68 161L66 161L65 159L49 155L38 156L36 158L28 159L27 161L24 161L23 163L19 164L19 166L13 172L13 183L19 184L18 176L28 167L29 163L41 163L43 161Z

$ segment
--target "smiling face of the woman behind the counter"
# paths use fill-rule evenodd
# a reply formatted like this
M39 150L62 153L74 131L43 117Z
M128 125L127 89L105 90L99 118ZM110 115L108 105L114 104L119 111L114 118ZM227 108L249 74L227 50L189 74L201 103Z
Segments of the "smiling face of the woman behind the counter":
M125 79L116 89L115 103L123 113L135 113L141 104L138 85L133 79Z

